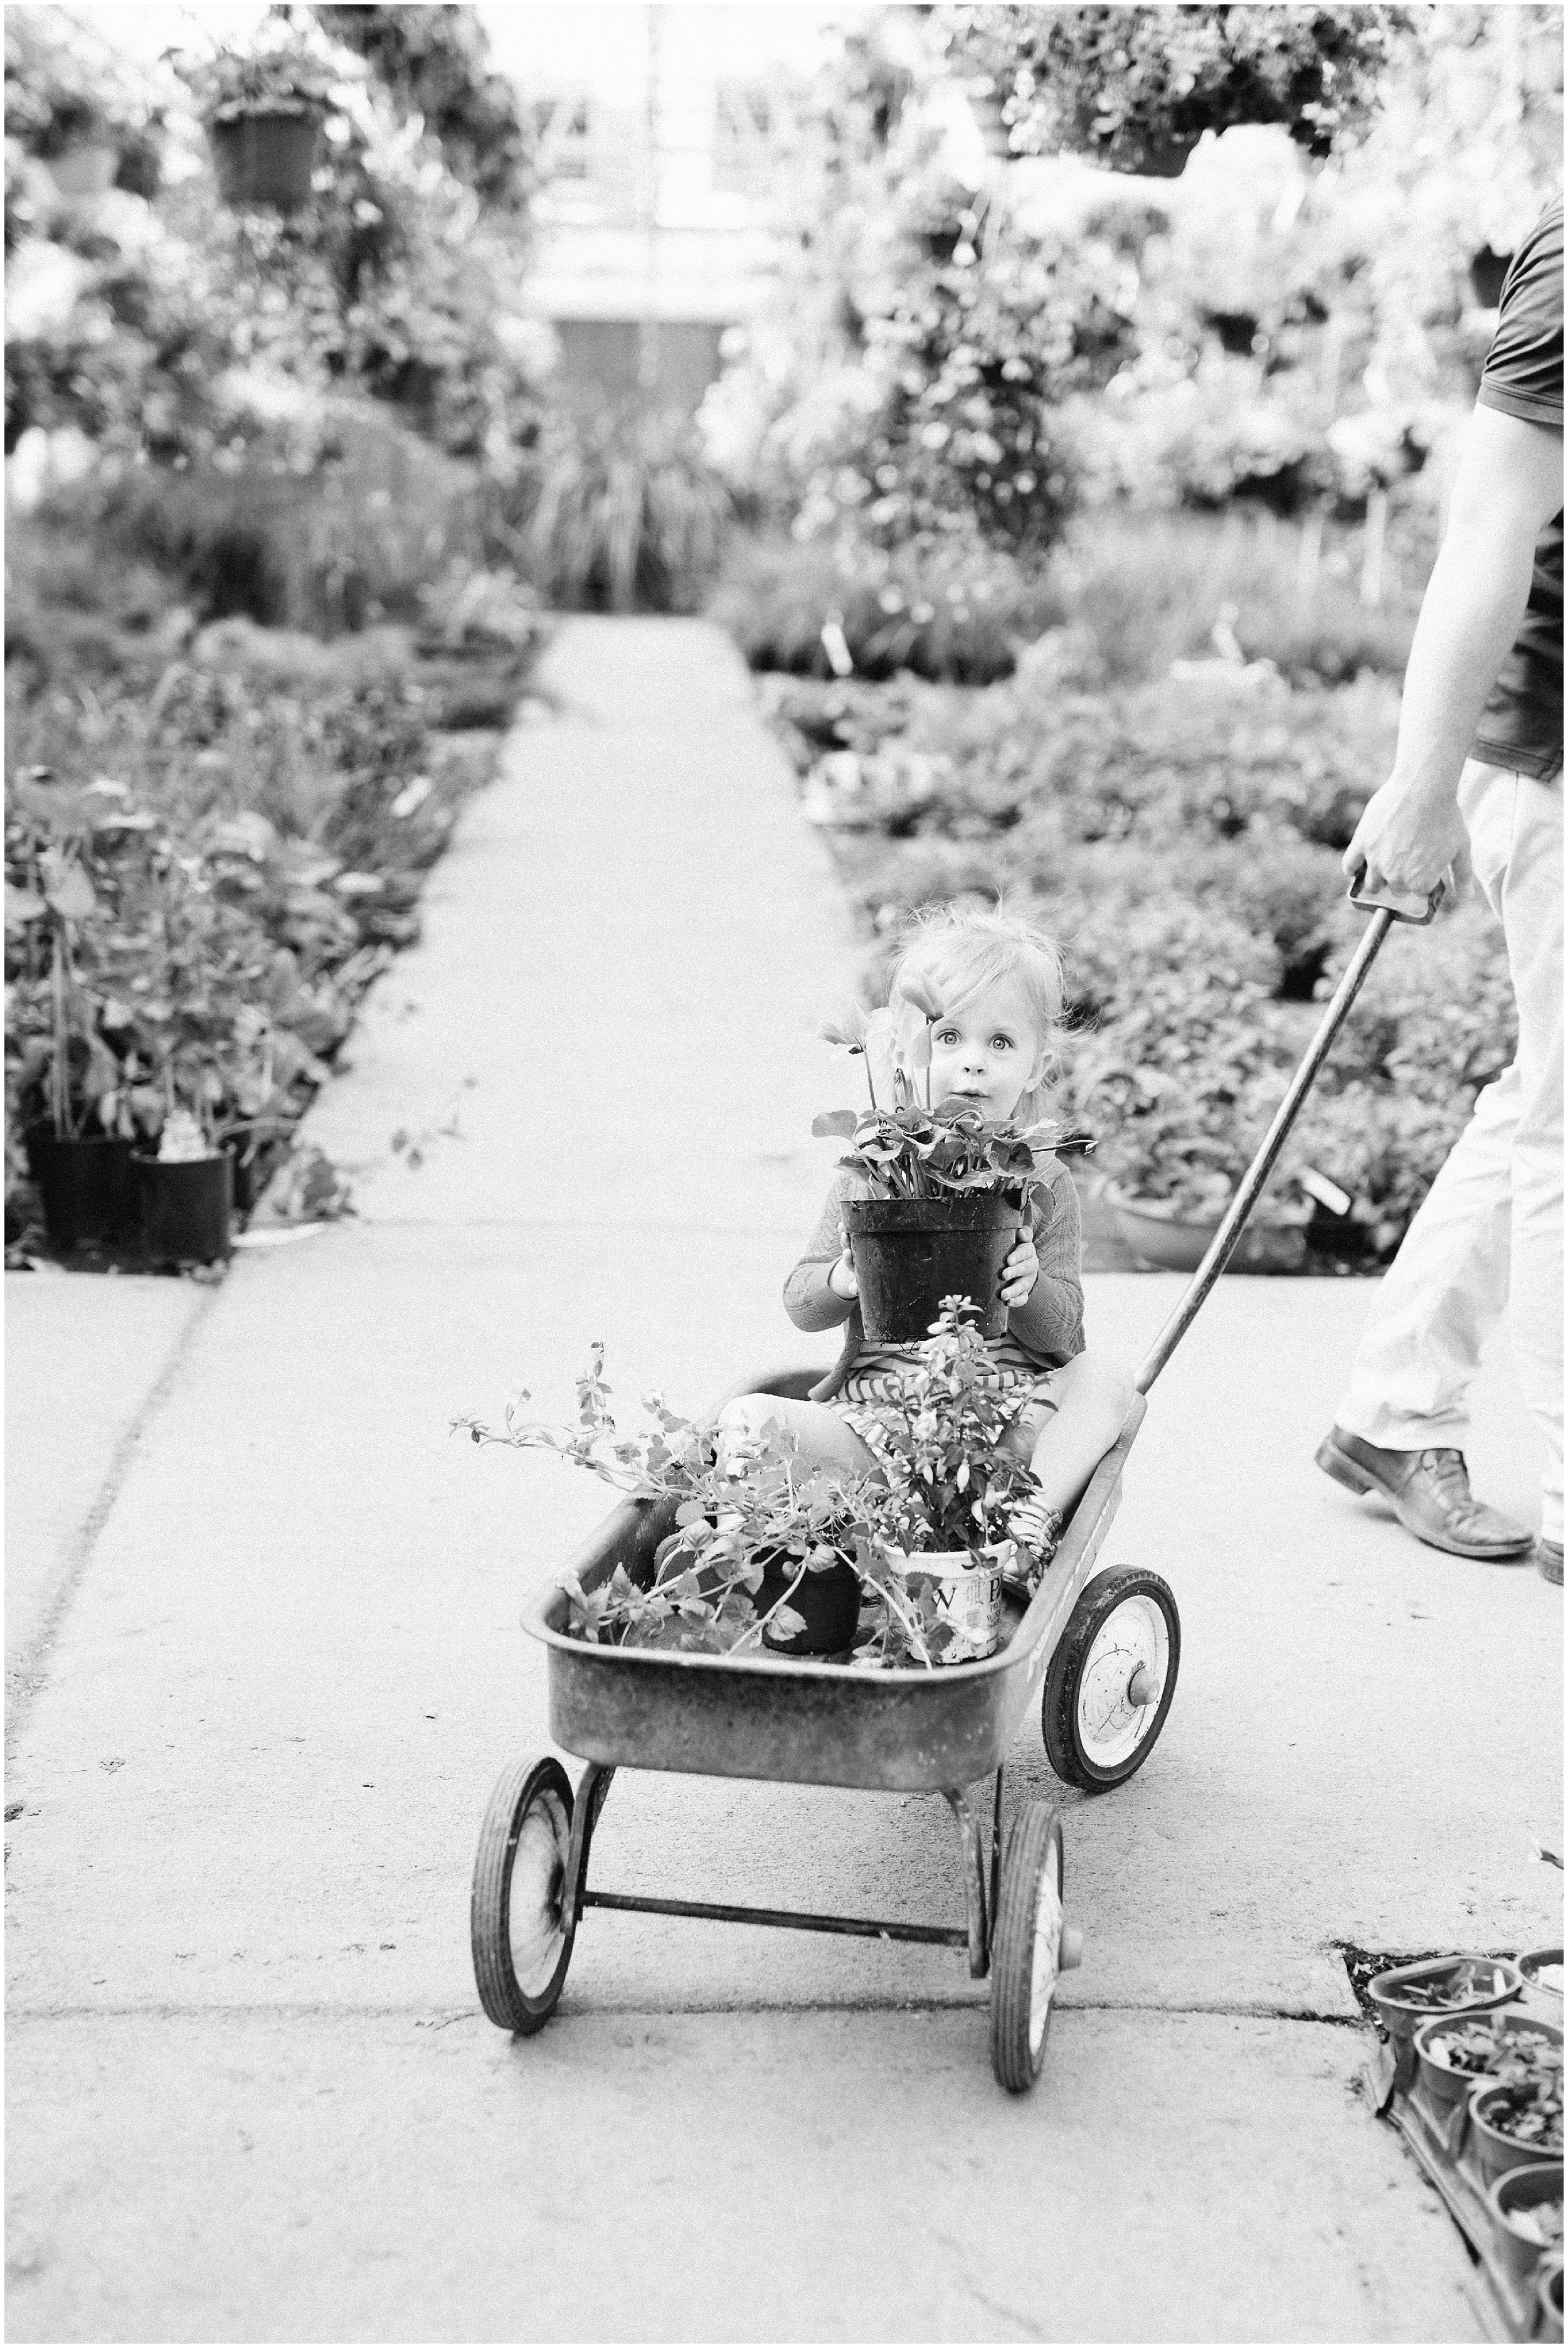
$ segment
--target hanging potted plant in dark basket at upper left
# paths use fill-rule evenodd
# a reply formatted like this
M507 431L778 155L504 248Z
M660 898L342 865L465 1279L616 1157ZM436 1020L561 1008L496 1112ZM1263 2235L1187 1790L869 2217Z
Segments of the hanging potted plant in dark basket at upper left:
M235 211L298 211L343 77L331 52L289 28L251 49L181 61L178 73L202 115L223 202Z

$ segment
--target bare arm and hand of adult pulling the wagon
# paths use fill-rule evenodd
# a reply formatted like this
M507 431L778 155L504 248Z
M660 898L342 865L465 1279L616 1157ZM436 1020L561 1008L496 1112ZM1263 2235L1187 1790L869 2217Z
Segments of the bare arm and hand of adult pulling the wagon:
M1345 850L1368 897L1427 897L1451 869L1465 871L1460 770L1530 599L1535 542L1561 505L1561 430L1476 406L1415 622L1394 772Z

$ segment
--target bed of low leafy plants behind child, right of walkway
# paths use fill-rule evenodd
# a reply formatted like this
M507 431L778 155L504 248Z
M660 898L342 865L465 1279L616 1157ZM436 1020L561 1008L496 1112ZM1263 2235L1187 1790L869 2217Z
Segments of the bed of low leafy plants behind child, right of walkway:
M791 683L772 700L805 808L883 939L871 991L911 906L1026 895L1068 956L1063 1111L1099 1129L1124 1188L1209 1214L1361 935L1338 848L1387 772L1397 700L1373 679L1056 690L1049 643L984 693ZM1507 956L1481 906L1390 942L1275 1212L1305 1216L1298 1183L1317 1167L1354 1197L1336 1247L1387 1254L1512 1043Z

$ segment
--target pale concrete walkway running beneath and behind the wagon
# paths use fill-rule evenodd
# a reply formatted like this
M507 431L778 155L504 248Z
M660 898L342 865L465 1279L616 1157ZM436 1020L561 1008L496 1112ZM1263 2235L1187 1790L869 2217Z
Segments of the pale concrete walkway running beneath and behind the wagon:
M479 2015L516 1613L606 1503L448 1421L568 1409L589 1338L685 1402L826 1355L777 1289L857 967L718 636L570 622L547 686L312 1113L359 1219L218 1291L7 1280L9 2336L1476 2336L1333 1944L1561 1937L1561 1599L1312 1470L1352 1282L1225 1282L1155 1395L1113 1557L1181 1693L1106 1801L1019 1747L1087 1935L1033 2097L948 1954L592 1916L540 2038ZM1174 1291L1091 1282L1091 1338ZM1505 1359L1474 1465L1530 1507ZM946 1918L948 1834L622 1777L596 1876Z

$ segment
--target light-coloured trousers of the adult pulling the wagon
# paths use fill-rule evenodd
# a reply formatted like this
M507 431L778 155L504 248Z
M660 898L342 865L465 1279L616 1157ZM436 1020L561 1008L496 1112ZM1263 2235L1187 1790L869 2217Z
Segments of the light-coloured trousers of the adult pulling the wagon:
M1373 1298L1338 1423L1368 1444L1465 1446L1481 1341L1502 1308L1563 1522L1563 798L1472 761L1460 784L1476 880L1502 920L1519 1054L1474 1115Z

